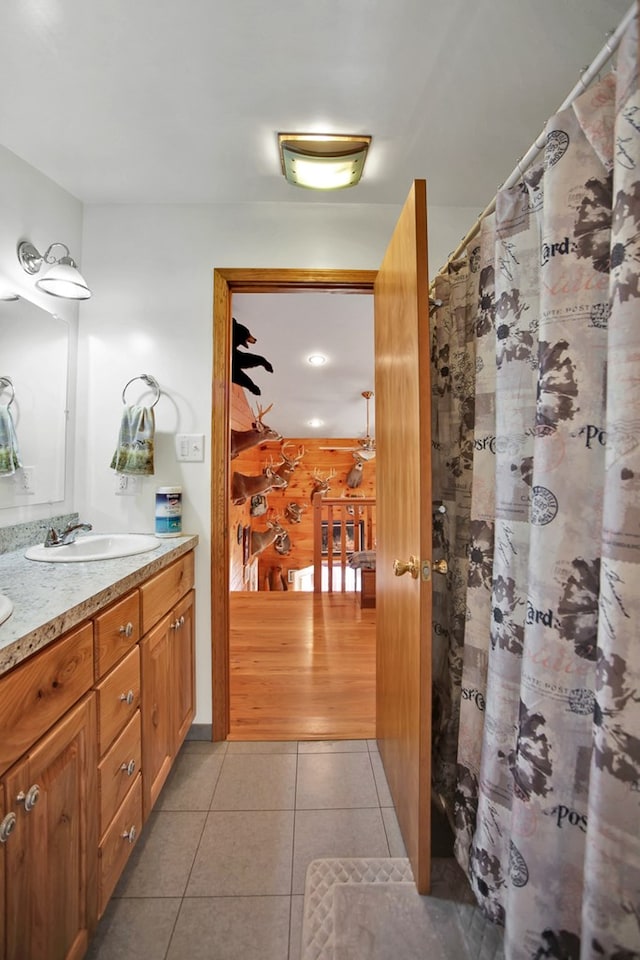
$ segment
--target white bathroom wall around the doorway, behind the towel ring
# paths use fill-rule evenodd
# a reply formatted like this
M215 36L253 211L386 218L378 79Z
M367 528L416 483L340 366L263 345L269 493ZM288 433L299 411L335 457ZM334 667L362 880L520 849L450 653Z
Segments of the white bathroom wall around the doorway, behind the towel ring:
M407 188L408 189L408 188ZM159 484L182 484L183 529L197 533L197 723L211 721L209 450L214 267L376 269L399 208L359 204L90 205L80 307L76 506L96 529L150 531ZM432 269L475 218L429 211ZM124 384L159 381L156 472L116 496L109 462ZM129 394L127 395L129 398ZM176 431L205 434L205 462L177 463Z

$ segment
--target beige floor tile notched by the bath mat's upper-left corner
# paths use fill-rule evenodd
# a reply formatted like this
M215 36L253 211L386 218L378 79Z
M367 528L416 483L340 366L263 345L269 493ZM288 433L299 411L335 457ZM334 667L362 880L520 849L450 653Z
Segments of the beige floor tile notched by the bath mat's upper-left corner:
M293 849L292 893L304 893L307 867L328 857L388 857L380 810L299 810Z

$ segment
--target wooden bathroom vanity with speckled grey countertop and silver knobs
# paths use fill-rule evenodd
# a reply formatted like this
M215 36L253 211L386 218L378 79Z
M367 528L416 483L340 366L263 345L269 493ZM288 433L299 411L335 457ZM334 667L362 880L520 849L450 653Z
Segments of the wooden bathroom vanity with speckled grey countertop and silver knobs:
M0 960L79 960L194 716L194 548L0 555Z

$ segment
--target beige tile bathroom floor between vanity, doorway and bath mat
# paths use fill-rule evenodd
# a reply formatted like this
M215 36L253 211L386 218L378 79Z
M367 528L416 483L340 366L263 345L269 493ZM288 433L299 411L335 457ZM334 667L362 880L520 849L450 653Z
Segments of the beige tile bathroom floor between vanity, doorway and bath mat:
M308 863L388 856L375 741L187 741L87 960L299 960Z

